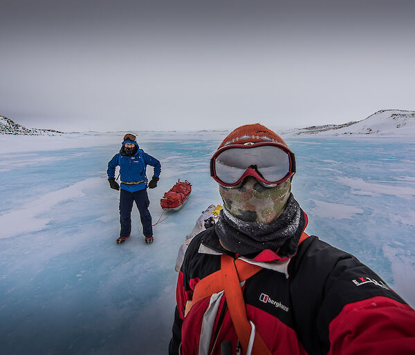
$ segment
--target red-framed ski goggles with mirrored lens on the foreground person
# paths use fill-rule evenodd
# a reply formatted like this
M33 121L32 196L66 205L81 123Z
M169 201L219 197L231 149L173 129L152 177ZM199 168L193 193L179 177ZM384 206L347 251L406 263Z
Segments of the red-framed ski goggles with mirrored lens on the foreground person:
M274 187L294 173L294 153L275 142L223 146L210 160L210 175L223 187L238 187L248 176L263 186Z

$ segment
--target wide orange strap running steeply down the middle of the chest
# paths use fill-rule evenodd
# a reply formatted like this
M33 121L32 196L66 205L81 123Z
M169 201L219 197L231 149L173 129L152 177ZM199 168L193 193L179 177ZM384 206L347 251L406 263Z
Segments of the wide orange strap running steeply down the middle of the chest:
M243 300L237 269L234 265L234 260L230 256L221 256L221 271L230 318L232 318L232 324L234 325L239 341L241 342L243 352L244 354L247 354L252 328L248 321L248 316L246 315L246 305ZM272 352L270 352L270 349L268 349L259 333L255 332L254 336L252 354L272 355Z

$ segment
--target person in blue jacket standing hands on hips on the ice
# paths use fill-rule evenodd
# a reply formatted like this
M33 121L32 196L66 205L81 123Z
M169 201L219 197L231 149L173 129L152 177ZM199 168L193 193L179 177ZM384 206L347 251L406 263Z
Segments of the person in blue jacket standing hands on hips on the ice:
M147 185L146 167L154 166L154 175ZM154 189L157 186L158 176L160 175L160 162L148 155L138 147L136 136L128 133L124 135L124 142L120 153L113 156L108 163L108 181L111 189L120 190L120 185L116 182L116 166L120 166L121 191L120 191L120 238L117 243L121 244L131 235L131 210L133 201L136 202L140 211L142 231L145 242L153 242L153 229L151 227L151 214L149 212L149 197L147 186Z

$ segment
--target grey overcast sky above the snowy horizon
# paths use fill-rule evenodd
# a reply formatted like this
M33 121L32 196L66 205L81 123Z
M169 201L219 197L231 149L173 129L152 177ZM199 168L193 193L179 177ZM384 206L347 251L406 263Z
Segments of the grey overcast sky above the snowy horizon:
M415 110L415 1L1 0L0 115L64 131Z

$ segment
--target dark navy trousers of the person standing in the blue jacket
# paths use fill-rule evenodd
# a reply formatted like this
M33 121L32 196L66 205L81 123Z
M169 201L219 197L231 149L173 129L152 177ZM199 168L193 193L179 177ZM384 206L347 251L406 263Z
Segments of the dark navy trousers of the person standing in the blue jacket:
M120 189L120 237L127 237L131 233L131 210L133 209L133 201L136 201L138 211L140 211L142 233L146 237L152 236L153 228L151 227L151 214L148 209L150 201L147 195L147 189L135 192Z

